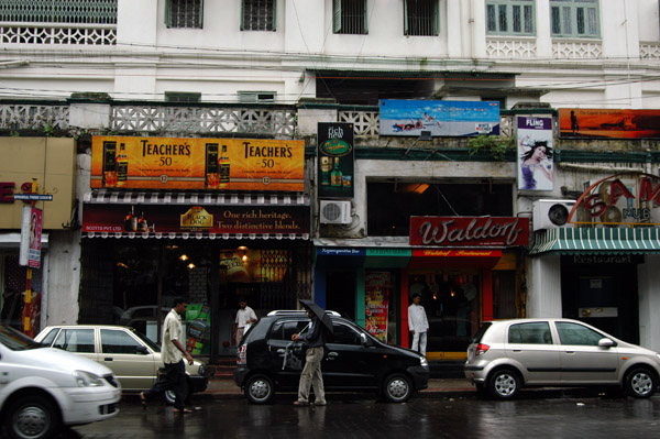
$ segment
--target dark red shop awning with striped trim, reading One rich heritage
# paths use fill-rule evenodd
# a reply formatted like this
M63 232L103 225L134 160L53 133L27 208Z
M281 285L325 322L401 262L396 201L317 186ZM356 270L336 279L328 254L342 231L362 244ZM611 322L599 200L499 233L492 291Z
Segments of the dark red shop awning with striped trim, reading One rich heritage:
M86 194L82 237L309 240L306 194L119 191Z

